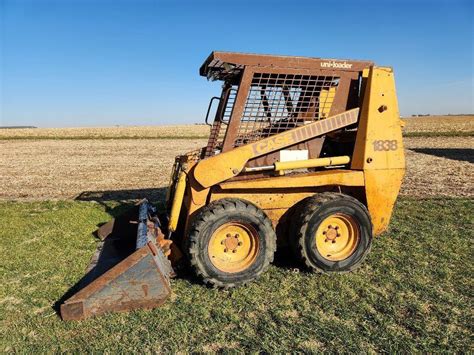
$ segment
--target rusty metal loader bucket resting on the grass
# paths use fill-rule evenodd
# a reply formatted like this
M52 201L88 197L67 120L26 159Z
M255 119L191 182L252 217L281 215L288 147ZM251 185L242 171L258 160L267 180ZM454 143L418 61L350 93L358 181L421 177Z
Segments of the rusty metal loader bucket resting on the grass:
M164 239L148 201L110 221L98 234L103 241L79 283L80 290L61 305L63 320L154 308L165 302L173 273L165 255L170 242Z

